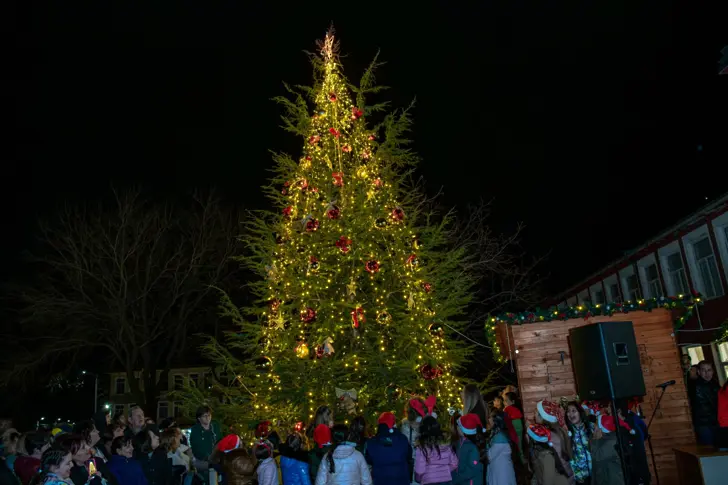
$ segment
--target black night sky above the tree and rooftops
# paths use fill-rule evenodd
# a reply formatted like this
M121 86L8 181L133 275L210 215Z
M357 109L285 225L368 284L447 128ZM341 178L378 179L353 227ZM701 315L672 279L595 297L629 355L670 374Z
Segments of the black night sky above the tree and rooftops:
M0 280L22 278L39 216L112 185L216 187L264 207L268 151L300 153L270 98L310 82L302 51L331 21L353 81L381 49L392 89L377 100L417 98L429 191L449 206L492 199L498 231L523 221L529 253L550 253L548 293L726 190L728 25L690 2L95 3L21 2L6 19Z

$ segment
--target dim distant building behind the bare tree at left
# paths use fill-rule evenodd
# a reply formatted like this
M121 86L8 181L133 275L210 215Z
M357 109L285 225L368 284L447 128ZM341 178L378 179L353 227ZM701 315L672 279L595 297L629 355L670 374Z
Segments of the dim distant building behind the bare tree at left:
M179 390L185 382L193 383L197 386L205 385L207 378L210 376L210 367L179 367L170 370L167 382L159 383L159 402L157 409L145 409L147 416L154 417L157 422L170 416L178 417L181 415L181 403L170 401L168 393L171 390ZM162 371L157 371L157 378ZM137 405L136 397L131 392L126 372L112 372L110 377L109 397L114 406L114 415L118 413L129 414L129 410ZM135 377L139 379L139 372L135 373ZM144 389L144 383L140 380L140 389Z

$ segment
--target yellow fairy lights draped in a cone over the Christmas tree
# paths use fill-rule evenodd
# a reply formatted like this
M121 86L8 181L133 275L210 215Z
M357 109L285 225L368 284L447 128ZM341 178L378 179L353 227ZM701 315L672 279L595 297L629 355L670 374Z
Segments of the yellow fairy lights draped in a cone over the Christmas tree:
M441 406L460 408L445 331L435 323L437 288L420 261L422 243L377 153L376 133L352 103L336 50L327 35L310 136L280 188L276 247L266 267L268 306L253 364L267 387L253 392L256 409L270 410L266 394L286 392L282 368L300 370L297 379L309 389L308 415L291 420L310 419L318 405L332 403L335 386L358 386L360 399L383 392L367 388L371 359L392 375L401 362L414 361L418 380L409 391L436 390ZM405 319L421 331L398 332ZM411 345L396 345L402 338ZM329 381L342 374L337 366L351 382Z

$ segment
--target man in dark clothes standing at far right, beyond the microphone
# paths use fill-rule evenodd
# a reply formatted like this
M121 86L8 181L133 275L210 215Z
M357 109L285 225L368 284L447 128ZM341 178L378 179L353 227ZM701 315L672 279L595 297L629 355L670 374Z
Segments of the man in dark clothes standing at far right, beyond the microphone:
M698 443L712 446L718 430L718 389L713 379L713 365L708 361L698 364L698 376L692 381L690 400L693 424Z

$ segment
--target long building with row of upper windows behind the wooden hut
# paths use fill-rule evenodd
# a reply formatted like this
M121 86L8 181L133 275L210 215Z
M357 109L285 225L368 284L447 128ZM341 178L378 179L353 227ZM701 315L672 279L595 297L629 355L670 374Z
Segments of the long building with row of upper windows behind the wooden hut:
M714 343L728 319L728 194L585 278L551 303L561 308L678 296L698 291L705 305L676 333L694 364L714 362L728 378L728 342Z

